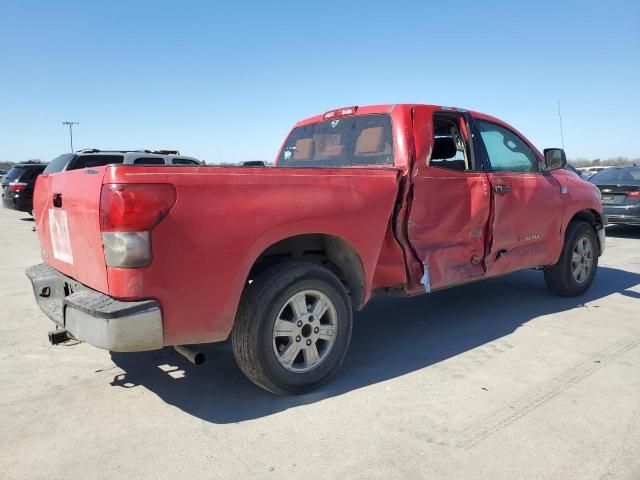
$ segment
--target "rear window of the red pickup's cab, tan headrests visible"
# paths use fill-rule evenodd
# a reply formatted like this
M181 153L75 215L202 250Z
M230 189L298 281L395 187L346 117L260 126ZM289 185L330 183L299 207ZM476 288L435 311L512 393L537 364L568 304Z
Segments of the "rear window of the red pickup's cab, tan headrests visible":
M279 167L350 167L393 165L389 115L333 118L294 128L280 156Z

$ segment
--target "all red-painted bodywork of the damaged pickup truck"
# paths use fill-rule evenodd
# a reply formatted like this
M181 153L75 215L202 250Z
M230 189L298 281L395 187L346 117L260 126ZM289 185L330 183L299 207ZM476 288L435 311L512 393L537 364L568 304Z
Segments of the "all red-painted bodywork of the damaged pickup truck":
M358 115L391 115L395 167L118 166L92 169L94 174L41 175L34 205L43 258L116 298L157 299L167 345L225 339L256 258L295 235L329 234L351 245L363 265L367 299L375 288L424 292L424 264L437 289L557 261L573 215L602 212L595 188L566 171L506 174L430 166L432 115L441 109L358 108ZM471 115L513 130L493 117ZM98 213L103 183L175 186L176 203L152 232L148 267L105 267ZM496 194L493 187L505 183L511 192ZM561 194L563 186L567 193ZM68 212L73 265L52 255L47 212L54 193L62 193Z

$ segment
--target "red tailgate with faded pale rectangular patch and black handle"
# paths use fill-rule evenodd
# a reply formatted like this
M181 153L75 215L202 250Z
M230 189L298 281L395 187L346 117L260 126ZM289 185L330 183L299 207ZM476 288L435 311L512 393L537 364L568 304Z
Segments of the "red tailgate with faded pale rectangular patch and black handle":
M42 259L78 282L106 293L100 235L100 191L105 169L40 175L33 208Z

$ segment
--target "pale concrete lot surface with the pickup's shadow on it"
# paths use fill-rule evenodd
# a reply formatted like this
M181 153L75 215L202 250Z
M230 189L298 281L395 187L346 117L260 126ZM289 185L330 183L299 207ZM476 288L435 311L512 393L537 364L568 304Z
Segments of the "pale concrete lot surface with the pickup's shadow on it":
M50 346L32 227L0 210L0 478L640 478L640 229L580 298L537 271L376 298L331 383L275 397L228 344Z

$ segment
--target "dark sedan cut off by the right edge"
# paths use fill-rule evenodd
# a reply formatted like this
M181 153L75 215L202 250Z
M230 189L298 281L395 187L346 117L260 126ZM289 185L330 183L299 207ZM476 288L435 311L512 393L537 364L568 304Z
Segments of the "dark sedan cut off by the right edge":
M600 189L609 223L640 225L640 166L608 168L589 181Z

